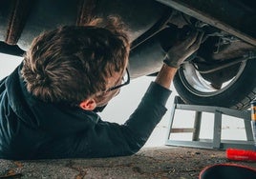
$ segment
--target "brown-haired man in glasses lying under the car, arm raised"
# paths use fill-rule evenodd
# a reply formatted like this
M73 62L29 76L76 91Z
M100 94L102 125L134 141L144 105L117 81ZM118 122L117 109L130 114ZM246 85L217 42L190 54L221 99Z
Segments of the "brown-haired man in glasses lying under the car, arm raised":
M22 64L0 82L0 158L110 157L144 145L166 111L175 72L202 35L167 52L138 109L117 125L96 114L129 83L129 40L113 27L63 27L34 39Z

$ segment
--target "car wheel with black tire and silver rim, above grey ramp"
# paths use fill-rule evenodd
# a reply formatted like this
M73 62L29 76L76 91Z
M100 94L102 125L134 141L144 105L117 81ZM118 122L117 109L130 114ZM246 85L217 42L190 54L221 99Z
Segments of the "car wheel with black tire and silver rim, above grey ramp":
M192 64L186 63L176 73L174 87L187 104L247 109L256 94L255 67L256 59L251 59L204 75ZM229 77L224 75L227 73ZM209 82L208 79L214 80Z

